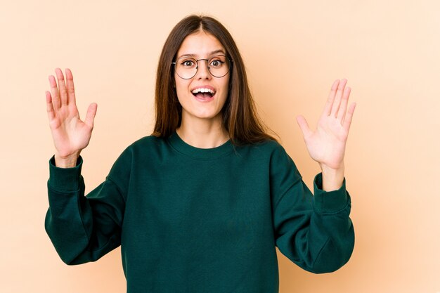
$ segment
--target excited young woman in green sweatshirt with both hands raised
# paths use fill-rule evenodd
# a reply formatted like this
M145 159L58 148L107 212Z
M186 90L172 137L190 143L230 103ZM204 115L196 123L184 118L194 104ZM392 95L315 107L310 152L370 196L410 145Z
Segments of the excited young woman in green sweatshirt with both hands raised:
M316 131L298 123L322 169L314 196L254 110L245 66L217 20L191 15L164 44L153 135L130 145L84 196L84 122L72 72L46 92L56 152L50 160L46 231L68 264L121 245L127 292L278 292L276 247L307 271L349 260L354 229L344 148L354 104L335 81ZM58 85L56 82L58 79Z

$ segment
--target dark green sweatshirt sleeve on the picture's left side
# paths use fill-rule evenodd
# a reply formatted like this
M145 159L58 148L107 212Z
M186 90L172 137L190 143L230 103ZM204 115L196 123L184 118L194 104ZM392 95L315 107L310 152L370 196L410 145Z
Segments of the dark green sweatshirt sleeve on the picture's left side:
M73 168L49 161L45 228L60 258L74 265L96 261L120 245L126 188L124 159L119 157L101 185L84 196L82 157ZM121 179L117 180L115 178Z

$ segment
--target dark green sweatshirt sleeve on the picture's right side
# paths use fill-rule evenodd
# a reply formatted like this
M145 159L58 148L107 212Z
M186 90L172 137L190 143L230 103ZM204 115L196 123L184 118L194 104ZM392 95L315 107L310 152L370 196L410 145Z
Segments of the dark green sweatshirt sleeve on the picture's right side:
M273 225L280 252L312 273L330 273L347 263L354 249L354 228L345 179L339 190L325 192L322 174L318 174L313 196L280 145L272 153L270 176Z

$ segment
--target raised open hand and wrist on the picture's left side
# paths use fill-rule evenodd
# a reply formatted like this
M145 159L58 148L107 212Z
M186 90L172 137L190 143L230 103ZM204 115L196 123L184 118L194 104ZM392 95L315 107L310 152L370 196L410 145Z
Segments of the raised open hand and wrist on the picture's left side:
M46 91L47 115L56 148L55 163L57 167L75 167L79 153L89 145L98 105L89 105L83 122L79 118L75 101L72 72L65 70L66 82L59 68L55 72L58 86L55 77L51 75L51 92Z

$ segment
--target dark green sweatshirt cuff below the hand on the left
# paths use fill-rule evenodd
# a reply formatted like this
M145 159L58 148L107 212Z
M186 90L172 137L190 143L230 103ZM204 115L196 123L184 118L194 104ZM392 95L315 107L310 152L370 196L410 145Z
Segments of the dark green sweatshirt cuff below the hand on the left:
M77 165L72 168L59 168L55 165L55 156L49 160L48 187L52 190L71 192L79 189L81 178L82 157L77 159Z

